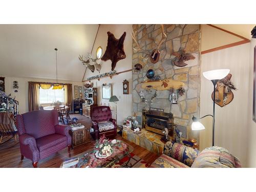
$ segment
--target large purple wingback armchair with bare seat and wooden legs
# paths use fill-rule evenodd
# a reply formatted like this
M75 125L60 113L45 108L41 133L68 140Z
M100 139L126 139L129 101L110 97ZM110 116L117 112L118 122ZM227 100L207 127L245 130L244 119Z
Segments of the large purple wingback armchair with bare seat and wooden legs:
M17 115L21 160L24 156L36 167L44 159L68 146L70 153L70 126L58 124L57 110L38 110Z

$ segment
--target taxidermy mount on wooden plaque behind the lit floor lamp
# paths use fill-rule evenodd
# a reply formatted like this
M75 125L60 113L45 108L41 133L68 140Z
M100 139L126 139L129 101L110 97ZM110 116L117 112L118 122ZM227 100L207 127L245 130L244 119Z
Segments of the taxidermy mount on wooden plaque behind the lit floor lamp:
M236 90L237 88L230 82L231 77L232 75L228 74L217 82L217 87L215 88L215 103L221 107L230 103L234 98L231 89ZM211 94L211 99L214 100L214 92Z

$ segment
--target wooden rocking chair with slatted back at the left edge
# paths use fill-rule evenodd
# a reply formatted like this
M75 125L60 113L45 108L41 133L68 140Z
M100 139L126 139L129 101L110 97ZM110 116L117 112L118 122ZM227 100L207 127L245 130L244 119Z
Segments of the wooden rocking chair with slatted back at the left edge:
M7 112L0 113L0 144L15 138L17 142L17 130L14 115Z

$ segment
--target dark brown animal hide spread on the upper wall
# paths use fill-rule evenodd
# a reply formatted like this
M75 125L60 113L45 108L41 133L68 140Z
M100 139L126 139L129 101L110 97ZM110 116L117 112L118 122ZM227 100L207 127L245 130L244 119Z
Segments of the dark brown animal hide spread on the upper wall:
M123 41L126 36L126 32L123 32L119 39L116 39L114 34L108 31L108 46L106 46L106 51L101 57L101 60L111 60L111 70L114 71L116 63L126 57L123 50Z

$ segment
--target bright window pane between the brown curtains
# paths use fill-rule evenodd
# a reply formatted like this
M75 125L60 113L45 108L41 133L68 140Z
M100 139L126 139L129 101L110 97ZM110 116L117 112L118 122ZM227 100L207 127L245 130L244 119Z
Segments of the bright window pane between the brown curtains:
M39 89L39 102L40 104L44 103L53 103L55 101L64 102L64 89L53 90L53 87L50 89Z

